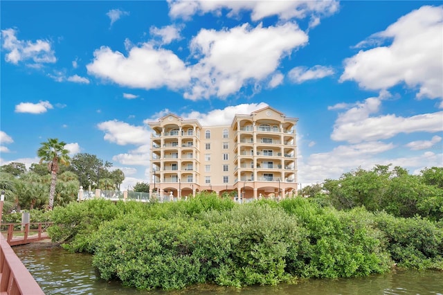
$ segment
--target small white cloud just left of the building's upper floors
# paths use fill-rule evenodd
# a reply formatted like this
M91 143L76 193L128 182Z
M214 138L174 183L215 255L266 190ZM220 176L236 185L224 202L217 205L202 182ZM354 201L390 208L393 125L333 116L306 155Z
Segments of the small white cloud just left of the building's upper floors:
M106 141L118 145L142 145L150 139L150 132L143 126L133 126L118 120L109 120L97 126L105 132Z

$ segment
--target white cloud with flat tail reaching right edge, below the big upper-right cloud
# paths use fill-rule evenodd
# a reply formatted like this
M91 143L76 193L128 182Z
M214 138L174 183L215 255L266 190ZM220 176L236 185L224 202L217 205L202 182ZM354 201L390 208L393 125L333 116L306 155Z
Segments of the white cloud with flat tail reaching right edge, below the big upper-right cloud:
M339 114L331 134L332 140L359 143L391 138L399 133L440 132L443 130L443 111L410 117L395 114L370 116L370 114L379 111L381 100L387 96L386 92L381 93L378 98L368 98L365 102L357 102L354 107ZM330 109L337 109L337 107L334 106Z

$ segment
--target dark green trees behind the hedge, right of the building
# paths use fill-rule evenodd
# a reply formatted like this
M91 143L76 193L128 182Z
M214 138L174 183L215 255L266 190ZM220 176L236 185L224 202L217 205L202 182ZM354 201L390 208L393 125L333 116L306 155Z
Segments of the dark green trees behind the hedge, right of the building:
M364 206L368 211L386 211L397 217L420 215L443 220L443 168L424 168L418 175L392 165L357 168L339 179L306 186L299 195L338 210Z

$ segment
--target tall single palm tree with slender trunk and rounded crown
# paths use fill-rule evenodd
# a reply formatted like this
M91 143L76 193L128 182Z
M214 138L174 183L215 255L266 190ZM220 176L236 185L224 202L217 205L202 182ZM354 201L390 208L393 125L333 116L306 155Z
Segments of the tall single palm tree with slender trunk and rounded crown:
M51 188L49 190L49 210L54 206L55 184L57 183L57 172L59 163L68 166L69 150L64 146L66 143L58 141L57 138L48 138L48 141L42 143L42 146L37 150L37 155L40 158L40 163L48 163L48 171L51 172Z

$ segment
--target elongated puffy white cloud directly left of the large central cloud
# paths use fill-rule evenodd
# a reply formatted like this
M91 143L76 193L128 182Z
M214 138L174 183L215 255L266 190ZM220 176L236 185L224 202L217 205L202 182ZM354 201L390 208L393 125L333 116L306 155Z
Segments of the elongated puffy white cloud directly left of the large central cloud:
M93 62L87 65L88 73L121 86L178 89L190 81L190 71L177 55L156 49L152 44L132 47L127 57L107 46L97 49L93 55Z

